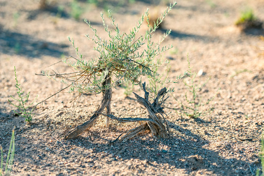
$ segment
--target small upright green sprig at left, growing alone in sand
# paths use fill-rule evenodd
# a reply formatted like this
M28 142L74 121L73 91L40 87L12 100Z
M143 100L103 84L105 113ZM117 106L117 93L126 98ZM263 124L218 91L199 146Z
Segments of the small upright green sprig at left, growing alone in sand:
M14 99L15 101L17 101L19 103L19 105L15 105L15 104L11 103L11 101L9 99L8 99L8 101L9 101L9 103L11 103L11 105L13 105L13 106L15 106L15 107L17 107L19 109L22 117L24 117L25 118L25 121L30 124L31 121L32 121L32 117L34 115L32 113L32 111L36 107L33 107L31 110L29 110L29 107L34 103L34 101L37 99L37 97L28 106L25 105L27 103L27 100L28 100L28 97L29 97L29 93L30 92L28 92L26 95L23 95L24 94L24 91L22 91L22 88L20 87L20 84L18 83L17 74L16 74L16 67L15 66L14 66L14 72L15 72L15 79L16 79L16 88L18 89L17 94L18 94L18 97L19 98L14 98L12 95L10 95L10 97L12 99ZM15 111L15 113L18 114L18 115L20 115L19 112L16 112Z

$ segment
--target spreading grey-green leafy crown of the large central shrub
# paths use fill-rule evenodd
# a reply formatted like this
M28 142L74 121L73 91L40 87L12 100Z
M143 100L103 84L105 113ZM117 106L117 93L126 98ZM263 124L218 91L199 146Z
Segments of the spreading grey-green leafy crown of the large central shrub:
M116 88L127 82L131 82L132 85L142 86L142 77L144 76L156 82L161 82L161 80L158 80L159 73L156 68L165 63L160 59L156 60L154 58L172 47L172 45L160 46L169 35L170 30L157 43L152 42L152 37L159 24L163 22L175 4L176 2L167 7L161 17L155 22L154 27L149 26L148 10L146 10L136 26L130 29L128 33L120 31L110 10L108 11L108 17L114 31L108 27L103 13L101 13L103 27L109 37L108 40L99 37L97 30L92 27L90 22L85 20L95 35L91 38L87 34L86 37L96 44L94 50L98 52L98 56L88 61L83 59L74 40L69 37L78 58L69 57L64 60L64 63L71 66L74 72L56 73L56 75L63 77L61 82L69 86L71 92L79 92L79 95L86 92L104 92L106 89ZM145 31L144 35L139 35L138 32L144 22L144 18L147 19L149 29ZM47 73L46 75L51 76ZM110 79L111 84L102 86L106 79Z

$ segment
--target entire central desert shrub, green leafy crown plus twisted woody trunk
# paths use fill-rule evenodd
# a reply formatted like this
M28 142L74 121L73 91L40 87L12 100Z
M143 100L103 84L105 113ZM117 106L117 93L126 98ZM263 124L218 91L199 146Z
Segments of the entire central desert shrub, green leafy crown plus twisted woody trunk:
M74 41L69 37L69 40L72 42L72 45L76 50L78 58L69 57L64 60L64 63L72 67L75 71L63 74L44 73L43 75L55 75L61 77L61 81L67 85L66 88L70 87L70 91L78 92L79 96L81 96L83 93L88 92L95 94L102 93L103 98L101 105L96 110L94 115L90 117L90 119L84 124L79 125L72 131L68 132L64 137L65 139L76 137L85 130L90 129L99 115L106 116L106 127L109 126L110 118L122 122L124 122L125 119L128 121L148 121L148 123L144 124L144 126L133 129L133 132L129 131L129 133L133 133L132 136L134 136L134 134L137 134L138 132L142 132L142 130L146 130L146 128L149 128L154 135L160 137L168 137L168 133L166 133L166 127L156 116L156 113L160 113L161 115L162 113L164 113L163 108L161 108L160 105L166 100L164 99L164 96L167 93L167 89L161 89L158 92L157 97L153 98L155 101L153 105L151 105L148 102L149 89L147 91L145 89L145 84L142 84L142 77L147 77L149 79L155 80L156 82L161 82L161 80L158 79L159 74L156 68L162 66L165 63L162 63L158 58L156 60L155 57L172 47L160 46L160 44L169 35L170 30L167 31L167 33L165 33L164 36L160 38L160 41L156 44L152 42L152 36L175 4L176 2L174 2L172 5L170 4L170 6L164 11L164 13L161 14L160 18L157 20L157 23L154 23L153 27L151 27L149 24L147 18L148 10L146 10L146 12L140 18L139 22L136 24L136 27L132 28L128 33L120 32L120 28L118 27L118 24L115 22L115 19L112 16L111 11L109 10L108 17L111 21L112 27L114 28L114 31L112 31L110 28L108 28L103 13L101 13L103 27L107 32L109 40L99 37L99 35L97 34L97 30L92 27L91 23L85 21L95 33L95 36L92 38L90 38L89 35L86 35L86 37L95 42L96 46L94 47L94 49L98 52L98 56L96 56L95 58L91 58L88 61L83 59L82 54L80 54L78 51L78 47L76 47ZM149 28L146 30L144 35L140 35L139 29L144 22L144 18L146 18ZM180 78L181 76L178 77L178 79ZM111 114L112 88L117 88L119 85L123 85L127 82L131 82L132 85L138 85L144 89L144 100L138 95L135 96L138 99L142 100L141 102L139 102L140 100L138 100L138 102L142 103L144 106L147 106L146 109L150 108L148 107L148 105L153 106L152 111L154 110L154 116L152 116L153 114L149 115L149 118L153 118L155 120L144 118L120 119L114 117ZM177 80L171 82L177 82ZM155 108L157 108L157 110L155 110ZM105 109L106 114L103 114L102 112ZM167 122L164 120L164 123ZM127 136L131 137L130 134ZM122 140L123 139L124 138L122 138Z

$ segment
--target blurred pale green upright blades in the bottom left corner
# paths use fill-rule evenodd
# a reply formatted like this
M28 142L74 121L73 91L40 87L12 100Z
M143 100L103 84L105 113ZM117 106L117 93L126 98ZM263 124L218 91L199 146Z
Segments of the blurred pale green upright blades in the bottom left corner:
M0 176L2 176L2 174L4 174L4 176L9 176L11 172L11 167L13 165L14 156L15 156L15 128L12 131L12 137L11 137L9 150L8 150L7 157L6 157L4 171L3 171L3 149L1 145L0 145L0 150L1 150Z

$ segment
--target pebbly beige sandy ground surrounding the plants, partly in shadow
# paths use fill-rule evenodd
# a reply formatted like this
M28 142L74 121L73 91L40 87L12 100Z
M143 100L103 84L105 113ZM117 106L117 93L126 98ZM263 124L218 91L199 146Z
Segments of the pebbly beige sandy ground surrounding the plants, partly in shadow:
M100 25L102 7L79 3L85 8L81 18L90 20L102 37L107 36ZM58 6L64 6L61 17L56 16ZM75 104L69 102L74 96L59 93L38 106L31 126L14 115L12 110L16 109L7 101L17 91L14 66L22 87L31 92L30 101L38 95L40 102L64 88L61 83L35 73L47 70L66 56L75 56L67 36L75 40L85 58L96 54L93 44L83 37L87 32L92 35L91 30L70 15L70 0L55 1L53 7L42 10L38 0L0 1L0 144L6 154L12 128L16 126L12 175L255 175L260 168L264 125L264 33L242 33L234 22L240 11L248 7L264 21L264 1L179 0L164 23L164 29L172 29L165 44L173 44L174 48L162 57L170 59L171 78L188 69L187 55L194 71L203 70L197 77L201 82L211 77L198 94L204 97L202 100L216 95L215 110L192 119L165 109L169 139L145 132L114 145L108 144L121 132L139 124L112 120L106 129L100 118L89 132L75 139L63 139L66 132L87 121L101 96L85 95L73 110ZM133 27L146 7L150 11L155 9L149 1L116 8L114 15L121 30ZM156 37L163 30L158 30ZM63 71L66 67L57 65L56 69ZM179 108L178 102L185 102L187 89L182 82L169 86L176 91L169 95L165 106ZM143 96L143 92L135 91ZM122 88L113 91L113 113L119 117L140 114L144 108L132 94L125 97L123 92Z

